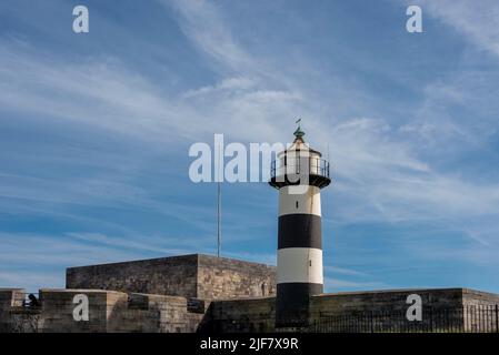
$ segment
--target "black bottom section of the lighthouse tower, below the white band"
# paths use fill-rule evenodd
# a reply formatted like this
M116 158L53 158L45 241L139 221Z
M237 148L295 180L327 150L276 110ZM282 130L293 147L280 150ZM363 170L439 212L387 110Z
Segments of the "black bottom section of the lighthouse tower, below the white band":
M308 326L310 297L319 295L322 292L322 284L278 284L276 297L276 328Z

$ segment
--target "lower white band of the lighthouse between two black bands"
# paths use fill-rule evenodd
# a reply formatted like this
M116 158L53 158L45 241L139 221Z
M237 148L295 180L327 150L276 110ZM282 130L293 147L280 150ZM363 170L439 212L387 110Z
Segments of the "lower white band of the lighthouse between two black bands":
M277 283L323 284L322 251L315 247L286 247L277 251Z

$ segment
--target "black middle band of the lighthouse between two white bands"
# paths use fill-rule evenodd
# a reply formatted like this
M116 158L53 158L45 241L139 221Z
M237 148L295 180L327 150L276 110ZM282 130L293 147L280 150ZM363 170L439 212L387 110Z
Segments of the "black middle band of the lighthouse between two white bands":
M316 214L285 214L279 216L278 248L322 248L321 217Z

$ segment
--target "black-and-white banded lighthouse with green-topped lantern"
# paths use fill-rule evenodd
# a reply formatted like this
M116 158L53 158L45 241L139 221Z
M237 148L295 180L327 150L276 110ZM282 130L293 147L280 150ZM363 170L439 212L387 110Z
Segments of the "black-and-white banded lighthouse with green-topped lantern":
M329 162L303 140L277 154L269 184L279 190L276 327L307 325L310 296L323 292L320 190Z

